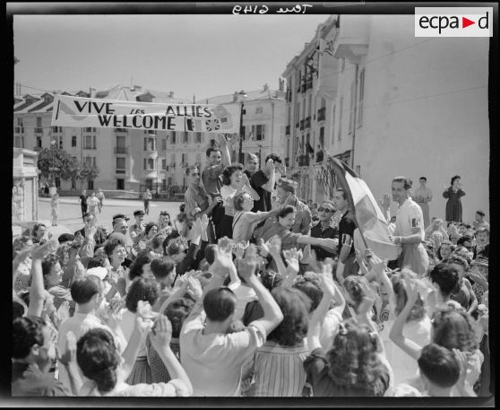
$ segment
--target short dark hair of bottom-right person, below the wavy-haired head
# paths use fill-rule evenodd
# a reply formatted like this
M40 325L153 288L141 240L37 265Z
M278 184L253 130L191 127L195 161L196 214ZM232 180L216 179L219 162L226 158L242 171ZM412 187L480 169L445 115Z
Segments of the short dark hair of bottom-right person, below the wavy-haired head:
M460 377L460 365L453 352L435 343L422 349L418 358L418 369L441 388L452 388Z

